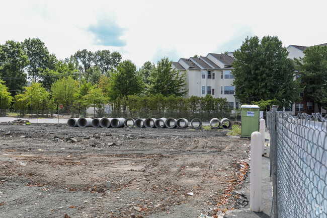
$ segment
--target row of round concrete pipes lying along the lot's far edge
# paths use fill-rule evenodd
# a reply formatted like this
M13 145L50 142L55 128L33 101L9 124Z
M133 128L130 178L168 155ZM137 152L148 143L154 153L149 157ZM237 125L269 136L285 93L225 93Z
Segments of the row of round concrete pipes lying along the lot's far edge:
M198 125L197 125L198 124ZM102 127L102 128L186 128L189 126L189 121L185 118L175 119L175 118L138 118L136 120L132 118L70 118L67 121L67 125L69 127ZM200 129L202 127L202 121L199 118L194 118L190 125L194 129ZM227 118L222 118L219 120L218 118L212 118L210 120L210 126L213 129L223 128L223 129L230 129L231 122Z

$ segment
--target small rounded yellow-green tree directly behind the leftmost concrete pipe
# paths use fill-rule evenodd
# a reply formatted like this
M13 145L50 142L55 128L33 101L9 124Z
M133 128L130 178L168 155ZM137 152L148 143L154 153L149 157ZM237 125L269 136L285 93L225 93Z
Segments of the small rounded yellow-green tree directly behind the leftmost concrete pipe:
M77 87L78 83L75 80L70 77L64 77L52 84L52 97L55 99L57 105L62 104L65 108L70 110L75 101Z

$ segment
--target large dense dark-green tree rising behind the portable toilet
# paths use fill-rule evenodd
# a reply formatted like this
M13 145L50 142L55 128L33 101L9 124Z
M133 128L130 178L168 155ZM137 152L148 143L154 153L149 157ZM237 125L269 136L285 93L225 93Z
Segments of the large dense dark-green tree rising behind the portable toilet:
M294 81L294 65L276 36L247 37L234 52L232 66L235 97L241 103L276 99L286 107L299 101L300 87Z

